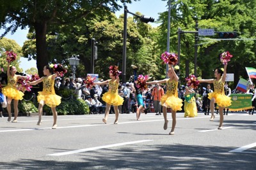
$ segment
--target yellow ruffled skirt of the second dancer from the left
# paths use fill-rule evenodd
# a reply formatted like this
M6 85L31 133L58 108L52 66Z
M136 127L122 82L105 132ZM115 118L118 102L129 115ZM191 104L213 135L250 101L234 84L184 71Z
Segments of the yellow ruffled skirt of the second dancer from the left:
M44 92L38 92L37 101L44 101L45 104L51 108L54 108L61 103L61 97L56 94L47 94Z

